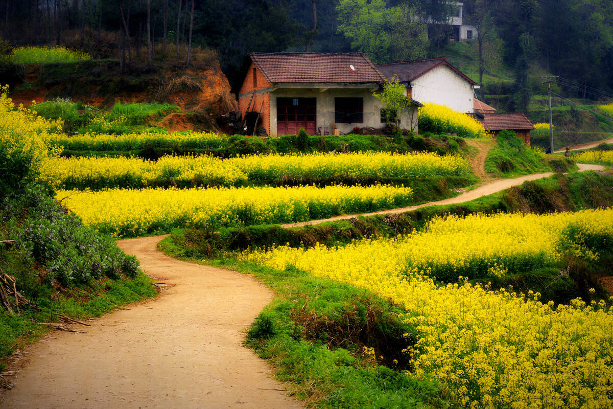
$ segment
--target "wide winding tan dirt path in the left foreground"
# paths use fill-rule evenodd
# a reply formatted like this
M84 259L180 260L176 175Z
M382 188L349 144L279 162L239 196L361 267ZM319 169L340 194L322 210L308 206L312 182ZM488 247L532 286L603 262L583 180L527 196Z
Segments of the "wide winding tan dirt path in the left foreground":
M272 299L254 278L164 256L161 237L122 240L150 275L174 285L158 299L51 332L2 408L300 408L242 346Z

